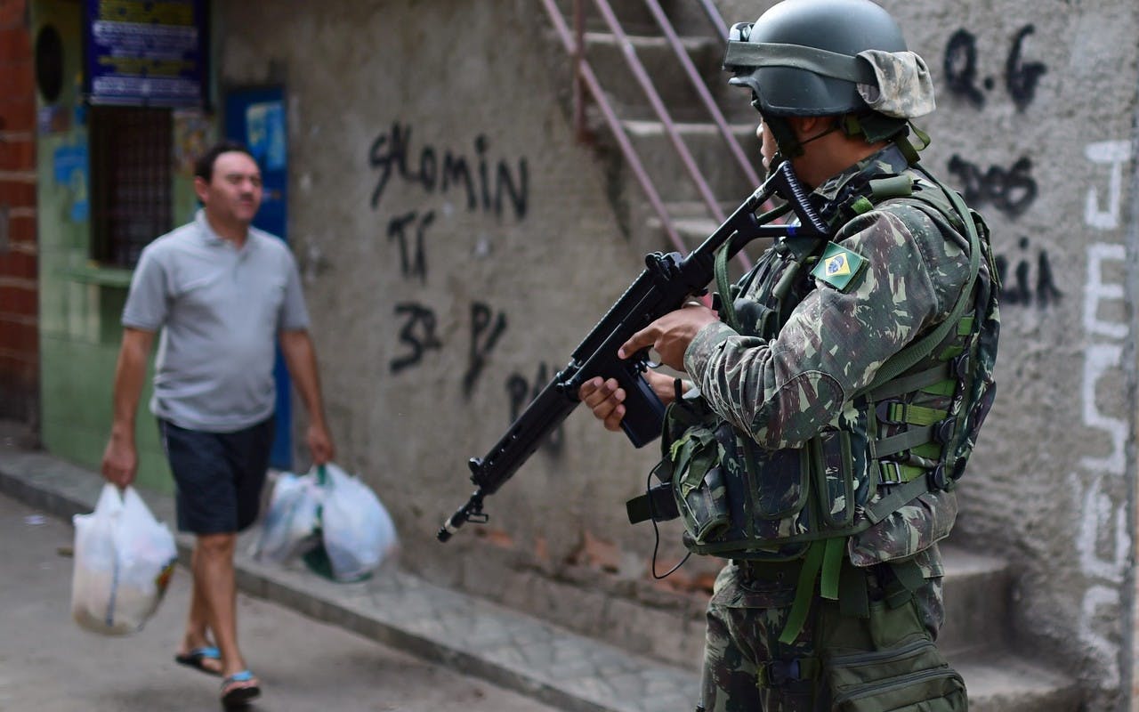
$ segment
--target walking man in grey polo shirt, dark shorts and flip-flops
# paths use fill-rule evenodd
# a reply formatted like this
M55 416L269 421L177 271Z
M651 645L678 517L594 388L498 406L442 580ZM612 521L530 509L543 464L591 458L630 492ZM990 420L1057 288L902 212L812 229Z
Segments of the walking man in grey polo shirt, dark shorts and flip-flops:
M251 227L262 198L256 162L239 144L219 144L197 162L194 189L203 205L194 221L150 243L131 281L103 474L121 488L134 480L134 418L158 334L150 410L178 527L196 535L175 660L221 676L222 702L235 705L260 695L237 643L233 550L257 518L269 465L277 343L309 414L313 461L334 450L296 264L284 242Z

